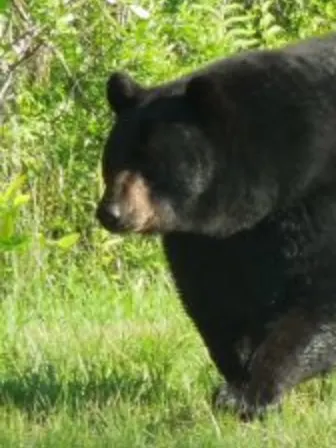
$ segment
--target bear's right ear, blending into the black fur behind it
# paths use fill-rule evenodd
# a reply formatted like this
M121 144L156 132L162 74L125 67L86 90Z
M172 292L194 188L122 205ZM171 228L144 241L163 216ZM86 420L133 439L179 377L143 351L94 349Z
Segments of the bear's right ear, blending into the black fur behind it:
M201 74L191 78L186 86L186 98L193 108L206 116L232 107L220 80L214 75Z

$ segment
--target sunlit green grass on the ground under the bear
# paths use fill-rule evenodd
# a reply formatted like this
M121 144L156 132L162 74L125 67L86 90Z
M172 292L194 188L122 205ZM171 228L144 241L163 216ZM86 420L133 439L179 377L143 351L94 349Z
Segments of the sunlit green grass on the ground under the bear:
M0 446L330 448L336 440L332 380L323 399L318 381L304 385L264 423L212 412L219 378L164 265L111 281L90 260L81 269L69 261L47 281L17 278L0 315Z

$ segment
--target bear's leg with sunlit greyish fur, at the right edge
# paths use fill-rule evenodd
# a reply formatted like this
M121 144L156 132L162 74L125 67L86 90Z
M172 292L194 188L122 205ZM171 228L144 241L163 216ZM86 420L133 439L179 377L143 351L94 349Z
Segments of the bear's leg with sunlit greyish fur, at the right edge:
M336 365L335 306L298 308L279 319L250 360L239 412L244 420L262 416L286 390Z

